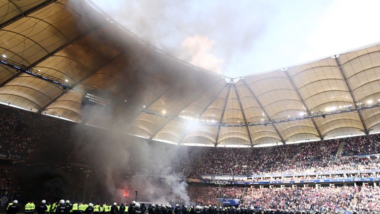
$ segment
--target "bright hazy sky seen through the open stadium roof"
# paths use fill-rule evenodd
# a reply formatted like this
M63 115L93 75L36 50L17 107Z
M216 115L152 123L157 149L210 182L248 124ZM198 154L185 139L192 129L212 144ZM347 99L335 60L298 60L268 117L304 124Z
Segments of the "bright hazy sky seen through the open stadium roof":
M379 0L92 0L146 42L240 77L380 42Z

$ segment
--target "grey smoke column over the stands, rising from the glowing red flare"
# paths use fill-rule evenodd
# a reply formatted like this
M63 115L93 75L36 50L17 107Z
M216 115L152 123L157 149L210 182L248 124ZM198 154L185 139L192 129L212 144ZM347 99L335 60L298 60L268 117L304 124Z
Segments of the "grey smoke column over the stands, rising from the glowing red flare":
M118 109L118 110L111 110ZM129 125L120 120L128 109L87 106L82 109L87 123L99 127L77 125L73 130L77 142L84 142L80 153L89 160L93 170L89 179L91 189L102 190L102 199L118 203L137 200L154 203L189 203L188 184L181 174L173 173L173 166L187 156L187 147L130 136ZM108 119L99 119L108 118ZM110 119L111 118L111 119ZM89 193L96 198L96 192Z

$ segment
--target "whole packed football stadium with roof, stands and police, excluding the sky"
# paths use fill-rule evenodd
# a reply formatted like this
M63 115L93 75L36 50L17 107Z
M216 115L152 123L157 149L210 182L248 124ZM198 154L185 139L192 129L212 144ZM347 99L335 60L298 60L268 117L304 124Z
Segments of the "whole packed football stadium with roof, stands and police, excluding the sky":
M380 213L379 44L229 77L91 0L0 11L0 213Z

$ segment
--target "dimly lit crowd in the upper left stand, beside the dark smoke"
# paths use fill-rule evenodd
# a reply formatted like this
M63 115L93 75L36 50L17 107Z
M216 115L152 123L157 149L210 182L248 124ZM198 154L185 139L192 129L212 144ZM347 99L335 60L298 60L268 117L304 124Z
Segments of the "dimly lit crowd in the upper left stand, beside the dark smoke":
M0 152L33 155L50 141L65 138L69 122L30 111L0 105Z

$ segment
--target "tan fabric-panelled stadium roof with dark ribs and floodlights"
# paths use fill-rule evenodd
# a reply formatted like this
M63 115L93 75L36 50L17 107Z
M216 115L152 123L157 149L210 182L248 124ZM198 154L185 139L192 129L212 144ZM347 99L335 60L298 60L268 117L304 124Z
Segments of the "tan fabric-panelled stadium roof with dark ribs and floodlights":
M85 88L106 91L135 107L127 132L184 144L380 131L379 107L339 111L380 99L379 45L232 79L173 58L94 10L86 1L0 0L0 102L81 122Z

